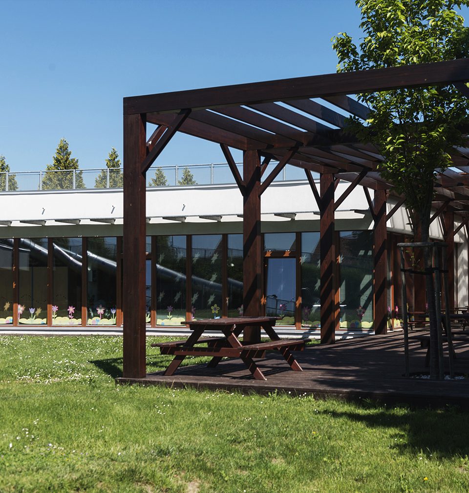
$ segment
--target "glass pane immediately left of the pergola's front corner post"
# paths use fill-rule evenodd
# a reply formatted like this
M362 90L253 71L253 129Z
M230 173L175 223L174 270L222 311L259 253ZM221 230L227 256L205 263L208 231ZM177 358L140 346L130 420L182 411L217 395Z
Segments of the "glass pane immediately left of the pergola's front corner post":
M88 238L88 324L116 324L117 239Z

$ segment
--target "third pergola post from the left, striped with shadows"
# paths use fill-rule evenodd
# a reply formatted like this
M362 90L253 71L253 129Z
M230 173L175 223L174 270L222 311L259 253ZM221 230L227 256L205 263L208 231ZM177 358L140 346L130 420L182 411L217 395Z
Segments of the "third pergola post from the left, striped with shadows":
M334 174L320 178L321 218L321 344L333 344L337 326L336 314L336 253L334 231Z

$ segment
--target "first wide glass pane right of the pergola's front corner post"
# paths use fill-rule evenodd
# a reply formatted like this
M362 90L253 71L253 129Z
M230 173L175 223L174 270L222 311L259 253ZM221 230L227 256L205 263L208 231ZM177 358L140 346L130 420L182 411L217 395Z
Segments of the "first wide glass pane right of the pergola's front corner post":
M185 236L156 237L156 325L186 319L186 251Z

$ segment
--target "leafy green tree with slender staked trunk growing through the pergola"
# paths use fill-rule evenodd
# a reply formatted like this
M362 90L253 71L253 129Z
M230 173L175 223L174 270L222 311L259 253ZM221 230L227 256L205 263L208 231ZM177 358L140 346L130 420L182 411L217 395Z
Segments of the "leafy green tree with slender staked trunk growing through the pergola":
M338 71L353 71L439 62L469 56L469 33L455 8L469 0L356 0L364 32L357 46L346 33L332 38ZM414 234L429 241L430 210L436 171L451 166L450 152L461 145L468 119L468 100L452 84L361 94L368 105L367 125L352 118L350 129L379 149L382 176L406 197ZM430 251L424 250L430 266ZM432 281L426 278L430 337L436 323ZM431 374L436 372L436 351Z

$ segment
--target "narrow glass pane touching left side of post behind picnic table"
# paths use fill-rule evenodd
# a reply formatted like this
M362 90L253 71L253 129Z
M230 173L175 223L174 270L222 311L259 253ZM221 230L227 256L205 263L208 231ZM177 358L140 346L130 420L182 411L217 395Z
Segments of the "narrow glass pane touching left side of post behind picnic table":
M228 235L228 317L243 315L242 235Z

